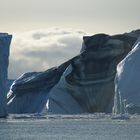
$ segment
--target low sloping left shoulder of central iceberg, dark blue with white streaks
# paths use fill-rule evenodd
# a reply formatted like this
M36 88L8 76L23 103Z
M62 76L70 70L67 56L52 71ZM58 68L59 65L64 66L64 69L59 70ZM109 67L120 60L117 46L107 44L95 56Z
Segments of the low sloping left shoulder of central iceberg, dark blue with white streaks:
M49 98L49 92L59 81L70 61L44 72L23 74L8 93L9 113L40 113Z

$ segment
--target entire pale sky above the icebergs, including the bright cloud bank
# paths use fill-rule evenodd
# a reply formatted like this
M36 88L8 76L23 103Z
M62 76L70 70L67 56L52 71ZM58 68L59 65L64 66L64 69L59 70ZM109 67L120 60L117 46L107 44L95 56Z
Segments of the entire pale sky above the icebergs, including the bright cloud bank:
M0 32L13 35L9 78L74 57L83 35L140 28L139 5L140 0L0 0Z

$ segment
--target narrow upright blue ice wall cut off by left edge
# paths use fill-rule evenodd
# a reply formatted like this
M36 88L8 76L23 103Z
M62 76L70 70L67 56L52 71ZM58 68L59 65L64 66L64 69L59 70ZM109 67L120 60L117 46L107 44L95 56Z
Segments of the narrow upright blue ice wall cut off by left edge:
M12 36L7 33L0 33L0 117L4 117L7 114L6 81L11 38Z

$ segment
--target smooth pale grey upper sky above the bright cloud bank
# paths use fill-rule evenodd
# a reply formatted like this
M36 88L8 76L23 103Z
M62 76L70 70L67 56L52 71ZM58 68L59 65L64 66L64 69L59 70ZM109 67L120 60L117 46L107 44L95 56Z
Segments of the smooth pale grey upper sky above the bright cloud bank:
M0 0L0 31L59 26L89 33L139 28L139 0Z

